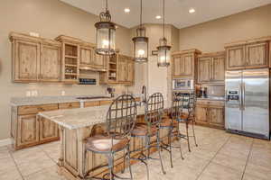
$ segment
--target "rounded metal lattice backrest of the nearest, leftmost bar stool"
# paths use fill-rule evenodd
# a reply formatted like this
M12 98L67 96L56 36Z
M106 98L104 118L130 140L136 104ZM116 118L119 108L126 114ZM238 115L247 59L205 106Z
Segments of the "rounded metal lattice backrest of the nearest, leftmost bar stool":
M111 103L107 112L107 134L112 138L124 138L134 129L137 115L135 98L122 94Z

